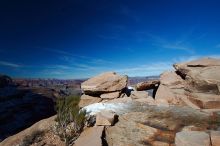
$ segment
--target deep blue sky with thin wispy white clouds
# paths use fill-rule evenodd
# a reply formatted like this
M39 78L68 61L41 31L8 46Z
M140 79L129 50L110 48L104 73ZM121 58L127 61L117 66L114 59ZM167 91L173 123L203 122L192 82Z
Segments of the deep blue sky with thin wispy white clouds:
M159 75L220 57L218 0L0 2L0 73L86 78L105 71Z

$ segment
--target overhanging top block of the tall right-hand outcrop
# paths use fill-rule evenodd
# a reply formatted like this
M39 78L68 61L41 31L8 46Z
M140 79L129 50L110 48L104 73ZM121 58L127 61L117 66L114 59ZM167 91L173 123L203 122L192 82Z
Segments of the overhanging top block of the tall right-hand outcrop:
M220 59L202 58L174 64L174 68L186 79L187 90L220 94Z

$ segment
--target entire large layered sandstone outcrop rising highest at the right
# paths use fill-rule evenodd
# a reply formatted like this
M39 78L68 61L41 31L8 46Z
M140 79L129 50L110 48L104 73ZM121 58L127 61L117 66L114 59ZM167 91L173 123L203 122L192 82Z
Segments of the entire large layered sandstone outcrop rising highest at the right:
M219 109L220 59L203 58L174 65L164 72L155 101L157 104ZM211 111L211 110L210 110Z

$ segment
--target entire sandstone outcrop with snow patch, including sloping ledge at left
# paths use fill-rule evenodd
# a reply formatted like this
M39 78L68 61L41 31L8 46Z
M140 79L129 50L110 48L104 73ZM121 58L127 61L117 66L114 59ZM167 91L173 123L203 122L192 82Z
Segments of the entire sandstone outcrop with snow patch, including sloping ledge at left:
M128 86L128 77L100 74L81 84L79 106L95 116L75 146L219 146L220 60L202 58L174 65L160 79ZM146 90L153 90L152 96ZM51 132L54 120L40 121L44 134L32 145L62 145ZM50 124L49 124L50 123ZM39 130L32 126L0 145L22 144Z

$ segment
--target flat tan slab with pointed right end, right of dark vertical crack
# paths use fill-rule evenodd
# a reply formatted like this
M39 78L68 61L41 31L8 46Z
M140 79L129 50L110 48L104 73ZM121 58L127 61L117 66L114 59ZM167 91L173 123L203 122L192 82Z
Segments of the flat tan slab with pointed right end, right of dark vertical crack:
M106 138L109 146L143 146L157 133L157 129L129 121L126 117L120 118L117 126L109 127Z

